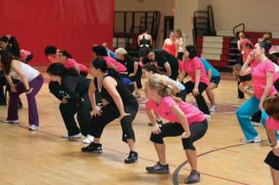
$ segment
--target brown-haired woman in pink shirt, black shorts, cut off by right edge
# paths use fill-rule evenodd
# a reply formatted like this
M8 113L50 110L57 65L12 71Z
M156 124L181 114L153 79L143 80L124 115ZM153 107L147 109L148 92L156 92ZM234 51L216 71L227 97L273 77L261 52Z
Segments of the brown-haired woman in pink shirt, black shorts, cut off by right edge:
M266 118L266 132L272 144L272 150L264 160L270 166L273 184L279 184L279 142L274 130L279 131L279 95L264 100L264 110L269 115Z

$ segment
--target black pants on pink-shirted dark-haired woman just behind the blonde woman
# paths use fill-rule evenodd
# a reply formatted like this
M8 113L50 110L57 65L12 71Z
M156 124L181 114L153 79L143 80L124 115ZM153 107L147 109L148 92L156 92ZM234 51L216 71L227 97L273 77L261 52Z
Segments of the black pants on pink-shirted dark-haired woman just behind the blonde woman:
M189 93L192 93L193 89L195 88L195 83L192 81L187 81L183 84L186 88L187 95ZM202 93L207 88L207 84L204 82L199 82L199 86L197 87L199 89L199 95L195 96L197 106L199 107L199 110L202 111L204 114L210 115L209 107L207 106L204 97L202 96Z

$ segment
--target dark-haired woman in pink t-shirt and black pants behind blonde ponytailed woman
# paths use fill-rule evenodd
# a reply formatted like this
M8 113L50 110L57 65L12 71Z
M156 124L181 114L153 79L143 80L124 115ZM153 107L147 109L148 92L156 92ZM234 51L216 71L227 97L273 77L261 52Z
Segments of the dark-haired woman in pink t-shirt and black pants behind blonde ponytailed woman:
M185 47L184 56L185 60L183 61L183 70L179 75L179 81L183 81L186 73L192 77L190 81L184 83L187 95L192 93L196 99L199 110L206 115L206 118L210 118L209 107L202 96L204 90L209 86L209 79L206 76L204 64L197 57L197 50L192 45Z

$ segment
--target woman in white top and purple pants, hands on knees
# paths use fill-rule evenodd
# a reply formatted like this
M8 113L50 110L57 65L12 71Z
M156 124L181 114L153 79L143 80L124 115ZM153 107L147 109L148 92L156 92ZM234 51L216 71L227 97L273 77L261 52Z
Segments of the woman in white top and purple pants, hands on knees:
M19 123L18 102L22 93L26 93L29 113L29 130L39 129L39 118L35 96L43 86L43 75L30 65L12 56L10 52L0 50L0 67L10 85L10 101L8 102L8 118L6 123ZM20 82L13 84L12 78Z

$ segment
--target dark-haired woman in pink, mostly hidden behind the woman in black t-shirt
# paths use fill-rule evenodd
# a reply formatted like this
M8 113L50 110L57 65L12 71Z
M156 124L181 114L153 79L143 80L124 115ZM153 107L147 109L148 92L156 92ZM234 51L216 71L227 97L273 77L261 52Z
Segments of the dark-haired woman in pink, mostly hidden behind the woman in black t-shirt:
M74 67L77 72L80 73L83 77L86 77L88 74L88 69L85 65L77 63L66 50L58 51L59 62L63 63L66 68Z

